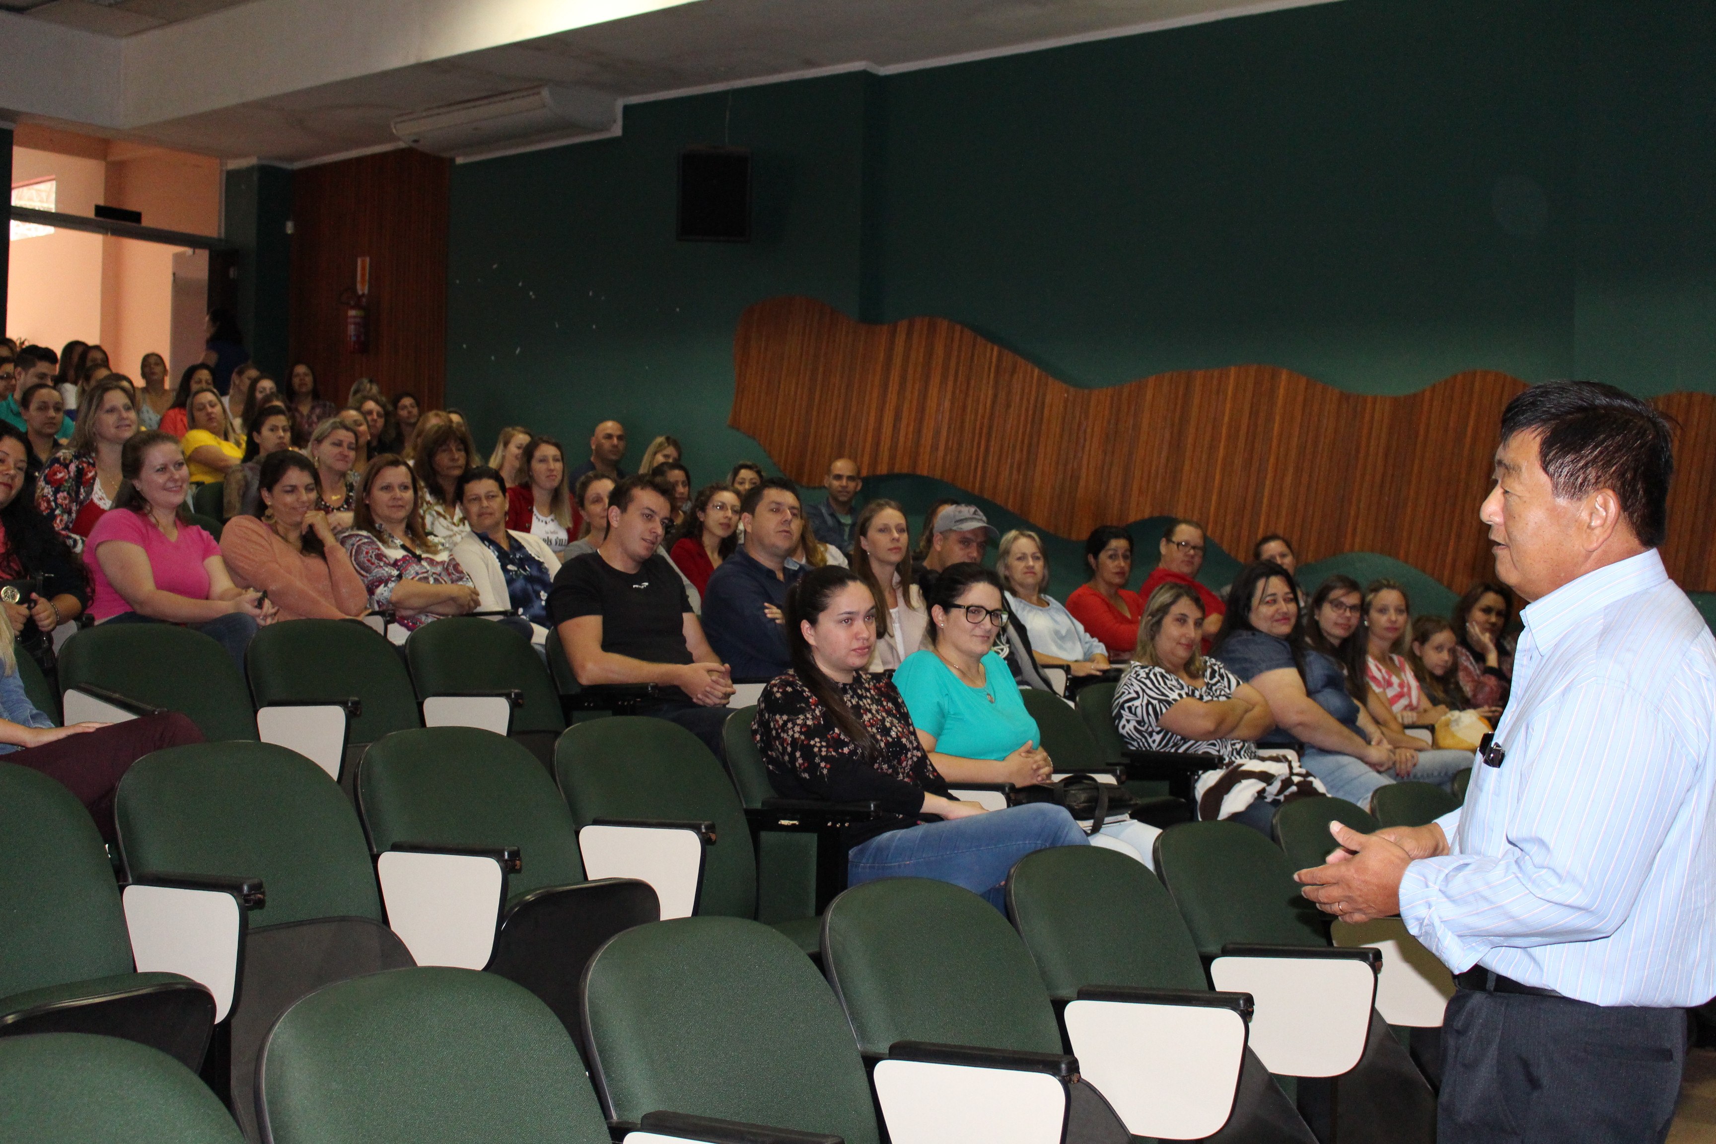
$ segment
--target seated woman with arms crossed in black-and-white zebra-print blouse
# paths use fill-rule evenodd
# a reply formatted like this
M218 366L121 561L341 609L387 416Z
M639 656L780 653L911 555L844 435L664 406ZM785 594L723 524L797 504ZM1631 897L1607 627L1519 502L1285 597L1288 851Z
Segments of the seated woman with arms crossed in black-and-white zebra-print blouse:
M1323 784L1290 762L1260 758L1275 719L1263 693L1203 655L1203 597L1187 583L1150 593L1133 665L1114 691L1114 726L1133 751L1215 755L1198 775L1198 818L1234 818L1270 834L1275 808Z

